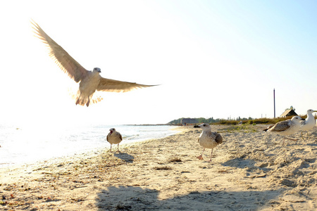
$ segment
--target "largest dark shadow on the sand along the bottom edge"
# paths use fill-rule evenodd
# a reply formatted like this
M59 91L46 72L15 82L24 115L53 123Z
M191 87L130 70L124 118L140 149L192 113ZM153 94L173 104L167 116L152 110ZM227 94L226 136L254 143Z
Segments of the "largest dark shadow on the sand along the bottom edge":
M161 200L159 191L139 186L110 186L98 193L99 210L259 210L271 206L278 191L194 191Z

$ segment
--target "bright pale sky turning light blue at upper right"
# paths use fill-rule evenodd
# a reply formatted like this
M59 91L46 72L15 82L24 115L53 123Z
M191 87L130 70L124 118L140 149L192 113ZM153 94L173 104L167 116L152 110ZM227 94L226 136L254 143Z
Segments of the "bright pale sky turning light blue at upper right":
M50 3L48 3L50 2ZM158 124L317 109L316 1L1 1L0 122ZM75 106L38 23L101 76L161 84Z

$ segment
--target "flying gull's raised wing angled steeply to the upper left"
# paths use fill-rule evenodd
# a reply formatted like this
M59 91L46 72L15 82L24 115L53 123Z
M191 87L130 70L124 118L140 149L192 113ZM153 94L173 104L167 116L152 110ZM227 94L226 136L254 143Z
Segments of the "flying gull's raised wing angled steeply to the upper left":
M31 22L35 34L39 39L42 39L44 44L49 47L49 56L54 59L55 63L66 72L71 79L75 82L80 82L84 78L88 71L77 63L61 46L59 46L49 35L47 35L41 27L35 22Z

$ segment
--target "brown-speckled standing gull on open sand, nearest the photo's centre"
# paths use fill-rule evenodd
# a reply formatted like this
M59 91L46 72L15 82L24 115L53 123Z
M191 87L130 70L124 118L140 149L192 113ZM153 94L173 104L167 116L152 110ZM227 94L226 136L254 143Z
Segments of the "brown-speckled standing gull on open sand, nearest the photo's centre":
M195 125L194 127L200 127L203 130L198 138L198 142L200 146L204 148L204 150L197 158L199 160L203 160L204 158L202 158L202 155L204 154L205 148L211 148L211 156L209 160L211 161L213 156L213 148L218 146L218 144L223 143L223 137L216 132L211 132L211 127L209 124L203 123Z

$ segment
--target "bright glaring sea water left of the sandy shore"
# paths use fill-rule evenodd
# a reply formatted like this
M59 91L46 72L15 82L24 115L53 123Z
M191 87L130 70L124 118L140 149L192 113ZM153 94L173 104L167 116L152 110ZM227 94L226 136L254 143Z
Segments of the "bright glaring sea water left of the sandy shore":
M159 139L177 133L167 125L26 126L0 124L0 167L58 158L110 148L106 135L111 127L123 136L120 145ZM113 145L117 150L117 145Z

